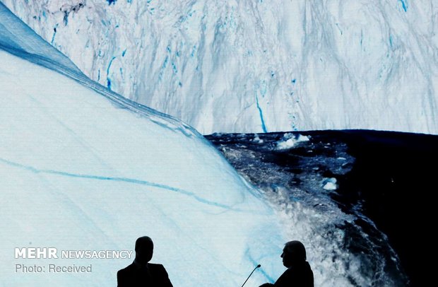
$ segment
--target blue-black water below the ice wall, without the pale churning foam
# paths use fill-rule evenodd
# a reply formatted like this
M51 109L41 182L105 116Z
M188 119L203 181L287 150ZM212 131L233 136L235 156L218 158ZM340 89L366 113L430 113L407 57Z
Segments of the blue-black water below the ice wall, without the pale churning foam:
M299 135L309 141L278 144ZM429 286L434 254L438 136L388 131L306 131L206 136L253 185L354 221L336 223L370 286ZM321 185L336 179L336 189ZM324 214L324 213L323 213ZM433 257L432 257L433 258ZM348 262L345 262L348 268ZM349 279L363 286L357 279Z

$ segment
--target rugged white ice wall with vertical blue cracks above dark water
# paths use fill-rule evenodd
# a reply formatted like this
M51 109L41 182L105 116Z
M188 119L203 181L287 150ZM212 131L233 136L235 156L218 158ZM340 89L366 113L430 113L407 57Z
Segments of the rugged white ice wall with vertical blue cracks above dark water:
M90 78L204 134L438 134L433 0L2 0Z

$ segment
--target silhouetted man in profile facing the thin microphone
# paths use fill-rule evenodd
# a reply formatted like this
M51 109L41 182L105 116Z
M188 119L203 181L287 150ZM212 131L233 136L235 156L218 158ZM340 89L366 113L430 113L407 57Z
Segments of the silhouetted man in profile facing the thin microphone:
M264 283L259 287L314 287L313 272L309 262L306 261L306 249L300 241L286 243L281 257L283 265L288 269L276 283Z

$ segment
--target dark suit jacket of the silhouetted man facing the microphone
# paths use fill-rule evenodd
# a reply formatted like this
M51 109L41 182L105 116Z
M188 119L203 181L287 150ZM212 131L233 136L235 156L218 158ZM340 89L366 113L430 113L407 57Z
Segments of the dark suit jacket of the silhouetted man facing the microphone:
M313 272L310 269L310 265L307 261L302 262L302 264L296 264L288 270L286 270L278 278L276 283L273 284L275 287L314 287L313 284Z

